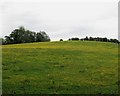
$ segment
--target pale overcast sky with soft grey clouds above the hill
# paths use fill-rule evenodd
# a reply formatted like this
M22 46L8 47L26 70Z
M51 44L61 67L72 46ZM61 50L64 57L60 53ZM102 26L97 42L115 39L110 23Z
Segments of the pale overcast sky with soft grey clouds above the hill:
M3 0L0 37L15 28L45 31L51 40L72 37L118 39L119 0Z

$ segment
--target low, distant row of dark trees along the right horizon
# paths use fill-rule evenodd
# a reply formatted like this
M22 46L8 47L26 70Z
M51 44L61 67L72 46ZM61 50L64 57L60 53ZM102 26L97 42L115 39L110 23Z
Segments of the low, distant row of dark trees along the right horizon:
M118 44L120 43L120 41L117 39L108 39L106 37L102 38L102 37L88 37L88 36L86 36L85 38L81 38L81 39L79 39L78 37L75 37L75 38L69 38L68 40L113 42L113 43L118 43Z

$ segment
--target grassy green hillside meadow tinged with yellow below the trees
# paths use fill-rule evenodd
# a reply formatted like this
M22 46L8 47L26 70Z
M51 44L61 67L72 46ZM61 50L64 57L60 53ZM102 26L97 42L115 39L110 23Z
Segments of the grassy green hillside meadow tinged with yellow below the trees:
M3 94L117 94L118 44L63 41L2 46Z

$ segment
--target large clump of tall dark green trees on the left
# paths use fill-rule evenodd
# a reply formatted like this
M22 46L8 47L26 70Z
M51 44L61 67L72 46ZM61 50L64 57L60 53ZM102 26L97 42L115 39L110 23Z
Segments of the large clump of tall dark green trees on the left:
M30 42L46 42L50 41L50 37L44 32L33 32L26 30L24 27L20 27L11 32L9 36L1 38L2 44L19 44L19 43L30 43Z

